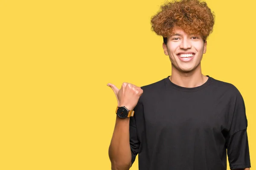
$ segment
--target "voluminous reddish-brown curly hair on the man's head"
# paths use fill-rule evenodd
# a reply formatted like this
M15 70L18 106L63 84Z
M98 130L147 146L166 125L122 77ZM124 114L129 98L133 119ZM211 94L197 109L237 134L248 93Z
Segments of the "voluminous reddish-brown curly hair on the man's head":
M207 39L214 25L215 14L200 0L181 0L168 2L161 6L161 10L151 17L151 29L156 34L167 37L178 26L188 34L200 34Z

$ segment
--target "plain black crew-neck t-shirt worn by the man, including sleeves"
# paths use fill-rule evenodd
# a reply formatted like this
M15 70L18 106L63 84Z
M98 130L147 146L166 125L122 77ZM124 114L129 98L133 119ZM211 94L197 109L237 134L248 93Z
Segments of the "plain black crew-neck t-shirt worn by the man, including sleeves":
M227 170L227 155L231 169L250 167L244 100L234 85L209 77L184 88L167 77L142 89L130 118L140 170Z

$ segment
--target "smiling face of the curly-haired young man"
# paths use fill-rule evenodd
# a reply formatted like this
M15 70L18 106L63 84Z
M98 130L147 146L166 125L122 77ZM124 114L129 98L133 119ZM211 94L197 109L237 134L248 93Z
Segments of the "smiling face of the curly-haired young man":
M167 45L163 43L163 50L164 54L169 55L173 69L190 72L201 66L206 46L207 42L200 35L186 34L183 29L175 27Z

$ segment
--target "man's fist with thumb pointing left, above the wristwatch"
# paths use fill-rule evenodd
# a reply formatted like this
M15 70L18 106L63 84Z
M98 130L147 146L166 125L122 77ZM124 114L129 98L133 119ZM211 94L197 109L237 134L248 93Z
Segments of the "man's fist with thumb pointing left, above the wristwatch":
M132 111L137 105L143 90L131 83L123 82L119 90L115 85L108 83L116 95L118 106L125 106L128 110Z

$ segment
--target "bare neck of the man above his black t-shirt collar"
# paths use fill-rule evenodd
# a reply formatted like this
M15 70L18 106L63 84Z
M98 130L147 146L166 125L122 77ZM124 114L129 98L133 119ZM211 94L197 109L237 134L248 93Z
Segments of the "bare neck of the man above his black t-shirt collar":
M202 74L200 63L197 68L189 72L178 71L172 65L172 76L170 76L169 79L178 86L195 88L203 85L207 81L208 77Z

